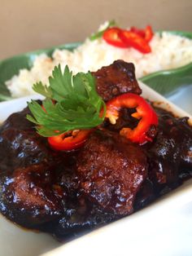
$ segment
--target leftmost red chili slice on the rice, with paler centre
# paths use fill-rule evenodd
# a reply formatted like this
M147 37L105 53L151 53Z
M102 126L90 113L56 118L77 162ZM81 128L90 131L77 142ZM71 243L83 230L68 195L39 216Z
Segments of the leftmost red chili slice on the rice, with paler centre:
M120 38L121 29L110 28L103 33L103 39L112 46L127 48L128 45Z

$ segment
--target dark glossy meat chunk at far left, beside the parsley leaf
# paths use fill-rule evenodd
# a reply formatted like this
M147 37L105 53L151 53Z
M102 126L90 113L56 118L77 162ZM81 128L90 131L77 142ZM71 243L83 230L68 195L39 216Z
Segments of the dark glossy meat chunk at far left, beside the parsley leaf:
M37 135L33 123L26 119L29 113L25 108L14 113L4 122L0 129L0 170L51 161L53 152L47 139Z

